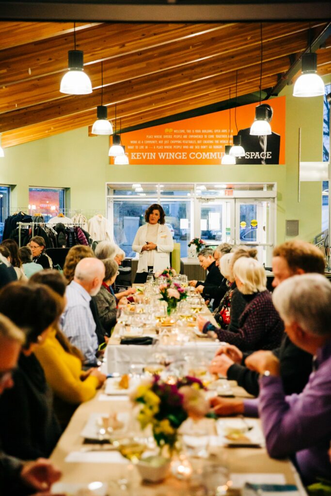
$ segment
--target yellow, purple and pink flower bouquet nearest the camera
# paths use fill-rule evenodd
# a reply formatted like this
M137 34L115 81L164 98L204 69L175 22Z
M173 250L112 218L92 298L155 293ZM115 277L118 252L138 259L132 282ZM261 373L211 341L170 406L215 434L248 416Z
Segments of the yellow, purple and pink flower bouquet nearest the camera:
M161 448L168 445L171 452L183 422L188 417L202 419L208 413L203 389L202 382L190 376L167 383L154 375L150 381L141 383L131 396L133 403L141 405L137 417L141 428L151 425L157 445Z

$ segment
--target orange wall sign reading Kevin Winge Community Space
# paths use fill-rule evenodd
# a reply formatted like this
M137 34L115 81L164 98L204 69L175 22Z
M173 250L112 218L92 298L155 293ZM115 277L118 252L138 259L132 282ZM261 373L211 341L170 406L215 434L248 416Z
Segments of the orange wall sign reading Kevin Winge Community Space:
M284 164L285 97L263 102L270 105L272 134L251 136L257 104L237 108L237 125L246 155L238 164ZM235 109L231 109L232 136L237 134ZM229 144L229 111L214 112L169 124L122 134L122 143L134 165L219 165Z

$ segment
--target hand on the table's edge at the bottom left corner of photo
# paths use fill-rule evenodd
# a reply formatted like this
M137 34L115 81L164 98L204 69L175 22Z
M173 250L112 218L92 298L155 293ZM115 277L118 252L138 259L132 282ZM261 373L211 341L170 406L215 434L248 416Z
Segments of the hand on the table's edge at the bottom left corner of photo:
M60 479L61 475L60 470L50 460L38 458L36 461L24 463L20 478L27 486L40 492L47 492L52 484Z

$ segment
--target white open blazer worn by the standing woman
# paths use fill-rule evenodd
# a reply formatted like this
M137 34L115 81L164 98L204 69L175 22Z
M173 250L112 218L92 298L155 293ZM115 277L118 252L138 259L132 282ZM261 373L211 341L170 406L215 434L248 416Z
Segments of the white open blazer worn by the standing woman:
M148 251L142 251L143 245L146 245L147 236L147 223L140 226L137 230L135 238L132 244L132 250L139 253L139 261L137 272L148 272L147 268L147 256ZM165 224L159 224L157 231L157 249L154 252L154 265L153 271L163 270L166 267L170 267L170 256L169 253L174 249L174 241L171 236L169 228Z

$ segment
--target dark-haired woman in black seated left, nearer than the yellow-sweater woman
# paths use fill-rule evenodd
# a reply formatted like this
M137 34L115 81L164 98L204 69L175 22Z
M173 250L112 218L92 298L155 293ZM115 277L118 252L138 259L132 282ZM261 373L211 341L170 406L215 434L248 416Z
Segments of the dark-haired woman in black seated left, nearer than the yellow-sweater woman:
M0 397L0 441L7 454L23 460L49 456L61 434L51 390L33 352L62 311L59 296L39 284L13 282L0 291L0 312L25 334L14 385Z

